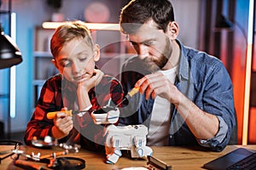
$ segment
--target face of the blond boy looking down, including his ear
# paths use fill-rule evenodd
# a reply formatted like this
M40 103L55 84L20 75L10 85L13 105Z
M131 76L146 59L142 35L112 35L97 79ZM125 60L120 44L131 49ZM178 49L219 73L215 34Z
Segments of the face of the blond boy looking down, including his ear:
M69 82L78 84L93 75L95 61L100 58L99 47L89 47L82 38L67 42L53 64Z

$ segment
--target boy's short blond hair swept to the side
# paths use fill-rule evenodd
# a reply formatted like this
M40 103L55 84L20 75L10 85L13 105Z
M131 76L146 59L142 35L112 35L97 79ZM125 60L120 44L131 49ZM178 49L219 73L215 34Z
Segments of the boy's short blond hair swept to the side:
M67 22L64 25L59 26L50 40L50 51L55 58L61 51L61 48L74 38L84 39L84 42L91 48L93 48L93 40L90 34L90 30L85 26L84 22L76 20L73 22Z

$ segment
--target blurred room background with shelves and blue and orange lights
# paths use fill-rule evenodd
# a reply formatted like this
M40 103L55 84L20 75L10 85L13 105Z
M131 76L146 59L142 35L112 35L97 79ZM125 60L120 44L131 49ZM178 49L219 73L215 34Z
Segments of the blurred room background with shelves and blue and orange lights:
M248 20L252 0L170 1L180 26L178 39L186 46L218 57L230 72L235 94L237 144L242 144L243 139L247 144L256 144L255 1L251 22ZM56 73L49 53L49 39L54 29L43 28L42 24L64 20L117 24L120 9L127 2L0 0L1 26L6 34L12 34L23 59L11 69L0 70L1 139L22 140L44 80ZM127 57L124 54L134 53L124 41L125 36L118 30L101 30L93 31L93 37L102 51L97 65L116 76ZM11 93L15 95L9 95Z

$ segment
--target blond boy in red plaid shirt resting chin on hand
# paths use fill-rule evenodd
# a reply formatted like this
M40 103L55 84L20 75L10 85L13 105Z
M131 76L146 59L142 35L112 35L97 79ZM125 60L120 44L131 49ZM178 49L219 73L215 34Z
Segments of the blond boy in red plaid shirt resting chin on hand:
M117 105L123 98L120 83L95 69L100 49L81 21L64 24L50 41L52 63L60 74L50 77L41 90L36 110L27 123L25 142L51 136L59 143L81 144L87 150L101 150L103 126L96 125L90 112L104 105ZM61 110L84 111L66 116ZM60 111L53 120L50 111ZM89 114L88 114L89 113Z

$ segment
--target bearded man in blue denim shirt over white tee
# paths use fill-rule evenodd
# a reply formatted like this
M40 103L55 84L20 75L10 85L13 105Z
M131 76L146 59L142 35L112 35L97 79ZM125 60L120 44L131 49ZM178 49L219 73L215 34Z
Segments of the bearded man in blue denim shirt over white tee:
M222 62L183 46L168 0L131 0L119 24L137 52L122 68L120 125L148 126L148 145L200 144L220 151L236 125L233 86Z

